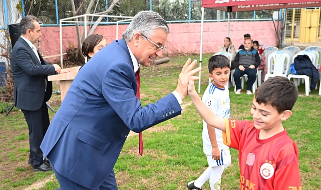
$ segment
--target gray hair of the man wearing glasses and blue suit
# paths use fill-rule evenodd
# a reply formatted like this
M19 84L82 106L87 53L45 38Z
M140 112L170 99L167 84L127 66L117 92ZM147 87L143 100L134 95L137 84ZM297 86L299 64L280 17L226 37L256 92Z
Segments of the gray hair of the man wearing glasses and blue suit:
M143 33L146 36L152 36L155 29L162 29L167 34L169 33L169 27L166 20L162 18L159 13L151 10L140 11L134 16L124 31L123 38L128 42L133 38L135 32Z

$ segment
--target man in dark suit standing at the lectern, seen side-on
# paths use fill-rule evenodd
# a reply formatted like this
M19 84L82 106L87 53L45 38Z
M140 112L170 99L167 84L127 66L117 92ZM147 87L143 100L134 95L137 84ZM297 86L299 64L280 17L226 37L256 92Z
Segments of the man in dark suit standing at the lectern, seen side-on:
M30 158L34 171L48 171L52 167L43 160L40 144L50 124L46 102L52 95L52 82L47 76L69 72L58 64L49 64L34 45L41 36L38 18L32 15L20 22L22 35L17 40L12 54L11 66L15 80L15 105L24 114L29 127Z

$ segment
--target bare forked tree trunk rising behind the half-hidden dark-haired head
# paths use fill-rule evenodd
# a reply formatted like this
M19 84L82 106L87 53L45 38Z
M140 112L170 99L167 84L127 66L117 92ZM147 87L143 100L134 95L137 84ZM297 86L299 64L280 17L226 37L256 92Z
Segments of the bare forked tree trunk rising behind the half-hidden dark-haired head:
M111 3L111 5L108 7L108 9L106 11L98 12L98 13L95 13L95 11L94 11L93 13L106 15L108 12L111 12L113 10L114 6L118 3L118 1L119 0L113 0L113 2ZM86 0L82 0L81 4L79 5L79 7L76 10L75 1L71 0L72 9L73 9L73 15L74 16L77 16L81 12L82 8L85 5L85 2L86 2ZM87 10L86 10L86 13L91 12L91 9L92 9L92 7L94 5L94 2L95 2L95 0L90 0L89 5L88 5ZM102 19L103 19L103 17L100 16L100 17L98 17L97 21L101 21ZM75 21L78 21L78 18L75 18ZM97 22L94 25L92 25L90 30L89 30L88 35L93 34L95 29L97 28L97 26L98 26ZM83 27L83 32L82 32L82 34L80 34L79 24L78 24L78 22L76 22L76 31L77 31L77 40L78 40L78 50L77 50L77 55L76 55L77 57L81 57L82 56L81 47L82 47L83 41L85 39L85 27L87 27L87 26Z

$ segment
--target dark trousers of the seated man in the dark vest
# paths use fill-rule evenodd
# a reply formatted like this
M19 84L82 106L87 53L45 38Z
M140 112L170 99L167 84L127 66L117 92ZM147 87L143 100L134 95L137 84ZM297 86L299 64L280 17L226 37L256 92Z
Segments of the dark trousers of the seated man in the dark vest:
M245 68L244 71L240 70L239 68L235 68L233 77L234 77L236 89L242 89L240 77L243 76L244 74L247 74L248 80L247 80L246 90L251 90L252 86L256 80L256 70L257 69L256 68L248 68L245 66L244 66L244 68Z

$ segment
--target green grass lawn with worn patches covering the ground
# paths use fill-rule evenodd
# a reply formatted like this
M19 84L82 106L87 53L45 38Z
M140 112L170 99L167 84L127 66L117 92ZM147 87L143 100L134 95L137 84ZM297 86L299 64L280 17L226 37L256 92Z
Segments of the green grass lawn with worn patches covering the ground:
M207 61L203 55L201 94L208 83ZM169 63L141 69L141 102L156 102L175 89L178 74L186 59L199 55L171 57ZM198 82L196 82L196 88ZM252 119L249 109L253 95L236 95L230 88L231 116ZM299 166L303 189L321 189L321 96L312 90L305 96L304 85L299 86L299 97L292 116L283 122L299 149ZM126 140L114 167L120 190L130 189L186 189L207 167L202 147L202 119L189 97L184 99L182 114L143 132L144 154L138 153L138 136ZM59 107L54 107L57 110ZM54 113L49 110L50 117ZM4 117L0 115L0 189L25 189L39 180L51 179L39 189L51 190L59 183L51 172L33 172L26 162L29 158L28 126L20 111ZM224 170L221 189L239 189L238 152L231 149L232 162ZM35 188L36 189L36 188ZM202 187L208 190L206 182Z

